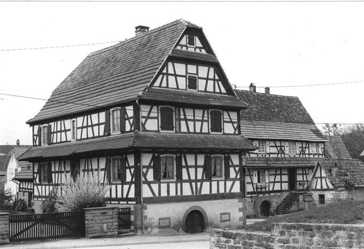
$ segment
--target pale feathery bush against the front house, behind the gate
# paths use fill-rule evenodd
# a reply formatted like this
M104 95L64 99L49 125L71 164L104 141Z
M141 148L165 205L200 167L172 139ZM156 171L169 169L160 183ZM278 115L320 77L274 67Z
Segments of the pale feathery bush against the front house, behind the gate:
M100 181L99 173L78 175L75 180L67 178L61 185L62 194L55 204L58 212L81 211L83 208L105 207L109 183Z

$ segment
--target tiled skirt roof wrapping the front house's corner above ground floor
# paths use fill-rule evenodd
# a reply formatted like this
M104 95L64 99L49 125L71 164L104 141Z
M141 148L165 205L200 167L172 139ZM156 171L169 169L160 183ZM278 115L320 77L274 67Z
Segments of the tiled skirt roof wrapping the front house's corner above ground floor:
M106 150L132 148L186 148L206 150L255 150L256 147L242 136L190 135L172 133L137 132L78 142L33 147L18 160L66 157Z

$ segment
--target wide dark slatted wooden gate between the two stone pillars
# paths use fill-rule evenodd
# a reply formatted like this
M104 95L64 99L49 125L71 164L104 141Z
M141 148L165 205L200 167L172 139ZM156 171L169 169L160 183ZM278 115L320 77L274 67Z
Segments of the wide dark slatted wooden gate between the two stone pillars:
M9 242L85 237L85 212L9 215Z

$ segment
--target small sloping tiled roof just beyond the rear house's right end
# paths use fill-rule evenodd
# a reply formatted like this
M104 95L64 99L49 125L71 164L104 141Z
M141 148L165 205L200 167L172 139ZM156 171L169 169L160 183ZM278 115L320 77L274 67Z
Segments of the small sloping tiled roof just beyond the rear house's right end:
M352 159L341 137L325 136L325 138L328 140L328 142L325 143L326 159Z

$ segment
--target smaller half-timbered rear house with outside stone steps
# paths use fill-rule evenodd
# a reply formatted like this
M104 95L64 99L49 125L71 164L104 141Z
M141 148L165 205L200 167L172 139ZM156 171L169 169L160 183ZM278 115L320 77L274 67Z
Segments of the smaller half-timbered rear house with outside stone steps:
M254 84L235 92L249 105L240 112L241 134L257 147L246 159L247 209L269 216L290 192L308 185L327 140L297 97L269 88L259 93Z

